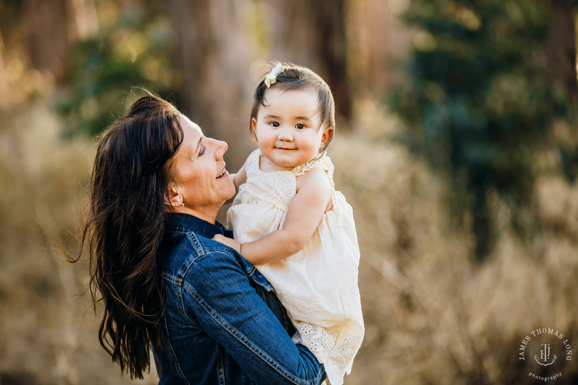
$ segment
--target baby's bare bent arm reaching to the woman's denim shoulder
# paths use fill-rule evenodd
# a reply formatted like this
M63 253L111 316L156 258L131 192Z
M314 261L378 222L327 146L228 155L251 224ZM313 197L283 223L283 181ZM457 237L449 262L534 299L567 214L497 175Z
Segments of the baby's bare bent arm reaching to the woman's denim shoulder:
M298 177L297 194L289 205L283 229L242 244L220 234L213 239L233 247L254 265L284 260L305 247L323 219L330 199L331 184L327 174L321 166L316 166Z

